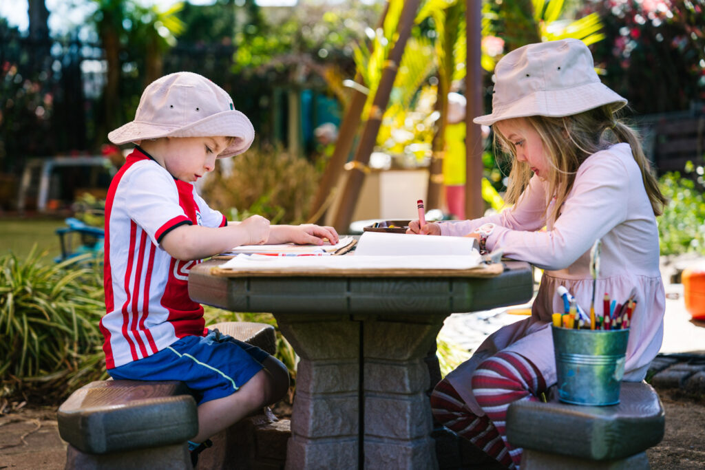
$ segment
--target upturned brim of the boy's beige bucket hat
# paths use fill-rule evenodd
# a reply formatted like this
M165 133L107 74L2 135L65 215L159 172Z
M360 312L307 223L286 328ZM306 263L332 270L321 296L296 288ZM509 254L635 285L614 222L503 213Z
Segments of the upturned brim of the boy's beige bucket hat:
M255 140L255 128L243 113L237 110L212 114L185 126L157 125L133 120L109 132L108 139L116 145L160 137L233 137L219 159L235 156L250 148Z

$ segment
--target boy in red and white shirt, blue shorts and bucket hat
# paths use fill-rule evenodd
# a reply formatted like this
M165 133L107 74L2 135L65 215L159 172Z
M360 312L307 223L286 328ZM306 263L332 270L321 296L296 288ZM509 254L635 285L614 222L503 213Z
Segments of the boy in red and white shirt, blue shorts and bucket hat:
M106 366L113 378L179 380L197 396L200 443L288 390L283 364L257 347L204 328L188 272L237 245L338 242L331 227L228 222L195 192L216 158L247 150L255 132L228 94L195 73L149 85L133 122L111 142L136 144L111 183L105 208Z

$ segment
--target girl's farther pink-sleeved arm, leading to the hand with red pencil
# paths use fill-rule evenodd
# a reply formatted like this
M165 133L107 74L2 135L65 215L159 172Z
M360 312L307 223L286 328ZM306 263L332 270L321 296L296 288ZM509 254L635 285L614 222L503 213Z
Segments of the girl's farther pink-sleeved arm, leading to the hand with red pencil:
M484 223L494 223L511 230L539 230L546 225L546 192L544 185L534 176L519 201L499 214L475 218L471 221L443 222L441 235L462 236L471 233Z

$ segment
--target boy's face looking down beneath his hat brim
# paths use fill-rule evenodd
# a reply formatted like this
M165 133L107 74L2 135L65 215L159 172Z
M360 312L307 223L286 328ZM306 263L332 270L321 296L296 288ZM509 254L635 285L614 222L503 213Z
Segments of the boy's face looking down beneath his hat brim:
M226 137L167 137L162 166L174 178L193 183L213 171L216 156L228 144Z

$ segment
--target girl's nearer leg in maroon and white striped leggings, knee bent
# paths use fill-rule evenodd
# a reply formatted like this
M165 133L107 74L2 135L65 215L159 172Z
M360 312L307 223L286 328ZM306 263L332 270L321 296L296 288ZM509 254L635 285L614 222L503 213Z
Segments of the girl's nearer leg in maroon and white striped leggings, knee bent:
M507 409L518 400L538 401L546 391L546 381L529 359L515 352L502 351L483 361L472 376L472 392L504 442L515 466L519 467L522 449L507 441Z

